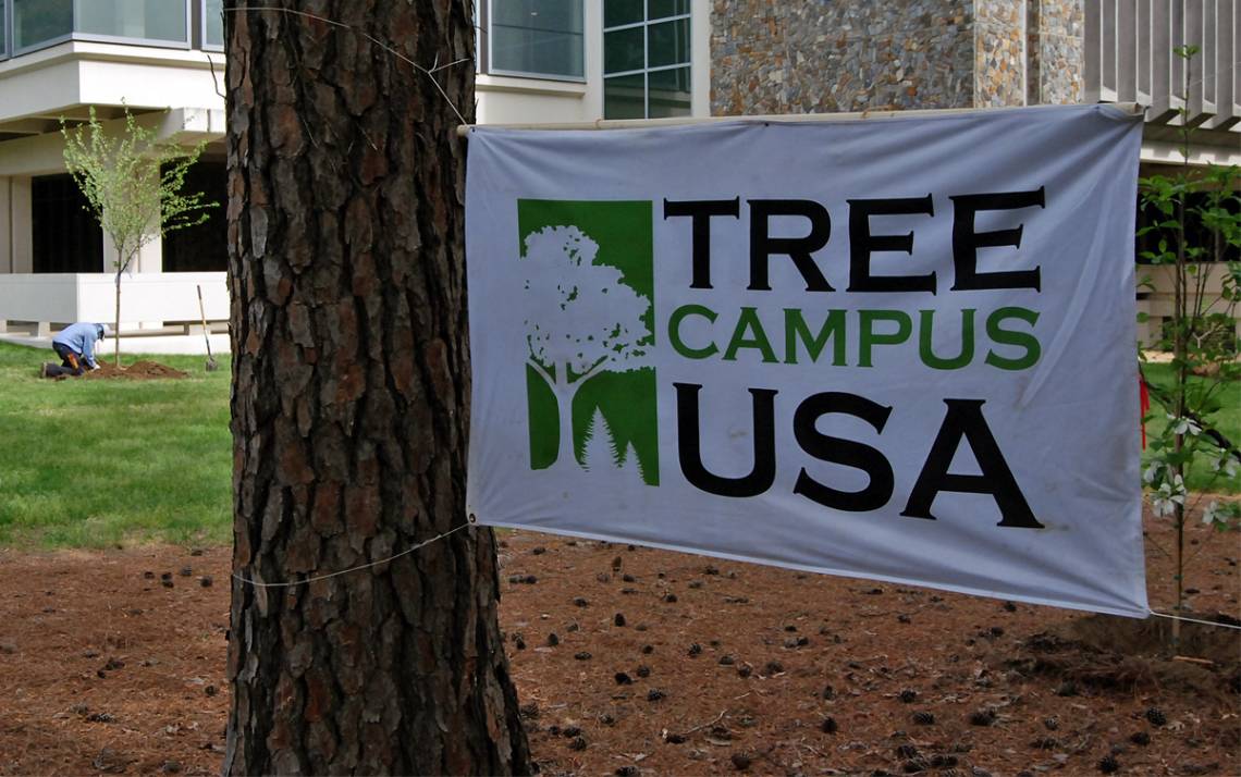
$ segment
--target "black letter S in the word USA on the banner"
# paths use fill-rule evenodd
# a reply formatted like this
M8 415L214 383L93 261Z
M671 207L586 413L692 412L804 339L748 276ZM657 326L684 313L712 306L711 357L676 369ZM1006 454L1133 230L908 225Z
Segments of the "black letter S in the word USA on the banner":
M802 446L803 451L824 462L861 469L870 477L870 483L860 492L841 492L823 485L802 469L797 475L793 493L824 506L850 513L880 509L892 498L892 465L882 453L870 446L830 437L814 428L815 422L828 413L856 416L882 433L892 408L856 393L829 391L807 397L793 416L793 434L797 436L797 444Z

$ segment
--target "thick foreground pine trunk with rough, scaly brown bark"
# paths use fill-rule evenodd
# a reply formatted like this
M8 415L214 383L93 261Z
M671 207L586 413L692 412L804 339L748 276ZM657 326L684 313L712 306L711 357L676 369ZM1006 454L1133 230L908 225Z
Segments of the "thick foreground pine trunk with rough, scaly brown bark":
M465 520L463 180L431 78L226 12L233 568L290 581ZM473 113L467 0L267 0ZM225 773L524 773L490 530L232 583Z

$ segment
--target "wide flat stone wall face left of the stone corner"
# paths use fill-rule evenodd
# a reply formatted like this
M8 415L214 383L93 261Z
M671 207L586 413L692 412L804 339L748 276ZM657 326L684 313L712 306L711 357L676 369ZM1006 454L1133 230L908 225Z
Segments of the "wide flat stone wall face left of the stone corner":
M972 0L715 0L711 113L973 104Z

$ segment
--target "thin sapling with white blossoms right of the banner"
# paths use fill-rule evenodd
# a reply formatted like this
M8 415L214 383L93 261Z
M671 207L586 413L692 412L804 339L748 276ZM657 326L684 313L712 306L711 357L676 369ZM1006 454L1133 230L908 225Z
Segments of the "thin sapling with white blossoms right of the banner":
M1189 73L1196 46L1179 46L1175 55L1185 61L1184 89L1189 94ZM1185 479L1190 467L1209 472L1204 492L1221 478L1232 479L1241 462L1235 441L1224 436L1214 422L1221 410L1220 395L1231 381L1241 379L1237 362L1236 309L1241 302L1241 262L1225 261L1241 247L1241 170L1212 166L1195 173L1189 166L1194 125L1181 108L1181 156L1175 176L1155 175L1142 179L1142 201L1157 215L1153 223L1139 230L1150 236L1152 249L1139 254L1150 266L1168 267L1173 279L1173 317L1162 329L1155 348L1172 353L1170 387L1150 385L1150 393L1162 406L1168 423L1152 441L1150 463L1143 473L1157 516L1172 516L1176 547L1176 612L1184 608L1185 515L1205 498L1191 495ZM1209 293L1211 278L1222 290ZM1152 287L1149 278L1143 285ZM1211 500L1203 520L1216 529L1236 529L1241 504ZM1173 622L1173 648L1179 645L1179 622Z

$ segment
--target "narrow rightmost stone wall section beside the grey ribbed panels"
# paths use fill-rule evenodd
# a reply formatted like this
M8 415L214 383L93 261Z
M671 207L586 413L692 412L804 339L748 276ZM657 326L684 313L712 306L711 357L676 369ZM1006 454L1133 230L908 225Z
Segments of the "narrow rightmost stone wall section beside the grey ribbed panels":
M1081 101L1086 26L1082 4L1083 0L1028 0L1029 104Z

